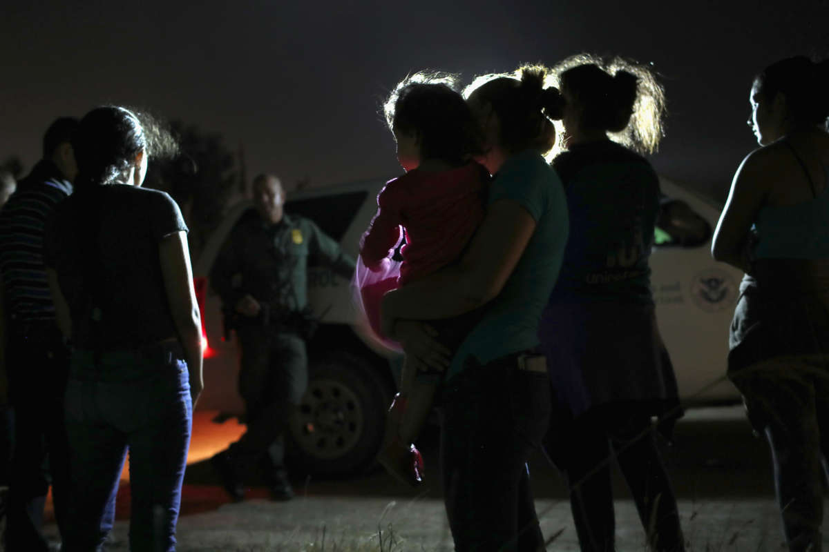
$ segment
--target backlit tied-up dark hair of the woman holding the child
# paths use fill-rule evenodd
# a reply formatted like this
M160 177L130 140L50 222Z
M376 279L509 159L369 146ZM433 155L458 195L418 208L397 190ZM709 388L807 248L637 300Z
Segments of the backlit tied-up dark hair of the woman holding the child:
M561 118L564 100L558 89L545 86L546 76L545 67L525 65L514 74L478 77L464 91L469 102L492 106L501 123L499 145L506 151L544 155L554 146L552 121Z

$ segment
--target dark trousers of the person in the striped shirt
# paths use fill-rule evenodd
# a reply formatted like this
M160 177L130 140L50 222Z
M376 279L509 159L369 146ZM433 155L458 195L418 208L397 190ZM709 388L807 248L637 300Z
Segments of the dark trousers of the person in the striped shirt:
M16 442L9 476L6 550L47 550L41 534L49 485L61 534L66 523L68 446L63 393L68 351L54 324L10 328L9 398Z

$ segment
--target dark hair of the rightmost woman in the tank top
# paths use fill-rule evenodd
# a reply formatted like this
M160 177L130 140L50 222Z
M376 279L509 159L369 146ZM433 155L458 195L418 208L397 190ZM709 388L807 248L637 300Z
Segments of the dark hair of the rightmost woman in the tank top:
M805 55L779 60L754 77L754 85L768 100L783 94L797 126L827 124L829 60L813 62Z

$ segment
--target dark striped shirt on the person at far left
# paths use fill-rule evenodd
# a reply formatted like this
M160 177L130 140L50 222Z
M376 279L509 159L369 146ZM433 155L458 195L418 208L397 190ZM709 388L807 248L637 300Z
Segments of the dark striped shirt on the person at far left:
M40 161L0 209L0 271L9 314L23 322L55 320L46 282L43 234L72 185L51 161Z

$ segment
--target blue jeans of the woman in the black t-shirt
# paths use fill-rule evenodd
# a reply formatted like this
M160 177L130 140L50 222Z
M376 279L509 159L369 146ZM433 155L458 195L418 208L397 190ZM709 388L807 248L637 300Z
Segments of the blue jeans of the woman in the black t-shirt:
M190 378L182 348L76 351L66 387L70 444L66 552L96 550L101 521L129 450L129 548L175 550L176 522L190 444Z

